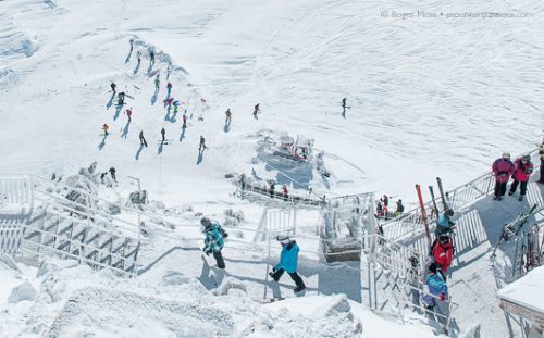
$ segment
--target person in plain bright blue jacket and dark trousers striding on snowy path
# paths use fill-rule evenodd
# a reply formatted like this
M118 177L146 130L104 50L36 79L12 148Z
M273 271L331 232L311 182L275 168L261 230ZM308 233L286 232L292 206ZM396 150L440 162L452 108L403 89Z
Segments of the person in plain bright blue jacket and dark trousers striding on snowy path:
M295 240L289 236L277 235L276 240L282 245L282 253L280 254L280 263L272 267L269 276L279 281L284 272L289 274L290 279L295 281L295 292L300 292L306 289L302 278L297 274L298 252L300 249Z

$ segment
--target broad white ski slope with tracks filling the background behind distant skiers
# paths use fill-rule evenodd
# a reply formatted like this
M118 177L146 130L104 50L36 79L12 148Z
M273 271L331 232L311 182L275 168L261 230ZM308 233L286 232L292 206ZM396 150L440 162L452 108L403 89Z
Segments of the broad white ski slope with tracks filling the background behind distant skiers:
M331 154L329 195L376 190L410 200L416 181L441 175L455 186L486 171L485 163L504 149L520 152L542 135L542 21L380 15L384 9L539 13L539 1L517 2L515 9L500 1L1 7L2 42L10 46L0 63L2 172L49 175L99 160L122 176L141 177L172 202L221 200L232 189L223 174L250 171L255 134L280 129L310 136ZM127 58L129 38L136 43ZM146 48L156 48L161 59L154 105ZM144 59L135 73L138 50ZM174 65L173 96L194 115L182 141L181 114L165 121L161 107L168 61ZM134 108L128 127L123 111L106 109L110 80L135 97L127 104ZM346 118L343 97L351 107ZM205 112L200 98L209 105ZM262 114L255 121L257 102ZM234 113L227 133L226 108ZM196 118L200 114L203 122ZM112 135L100 150L103 123ZM158 155L162 126L174 142ZM150 148L136 160L139 130ZM201 134L210 150L197 165ZM326 190L319 177L312 186ZM178 193L188 187L198 189L190 197Z

